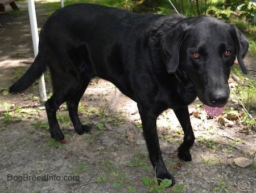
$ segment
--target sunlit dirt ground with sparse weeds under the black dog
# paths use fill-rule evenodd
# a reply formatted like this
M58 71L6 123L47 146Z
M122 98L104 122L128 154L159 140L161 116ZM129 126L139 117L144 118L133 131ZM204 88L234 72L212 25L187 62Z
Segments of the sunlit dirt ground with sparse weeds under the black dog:
M27 10L26 4L17 4ZM36 3L36 10L40 28L48 10L39 4ZM0 191L149 192L151 187L144 186L141 178L153 179L154 169L147 156L135 102L121 95L110 109L114 86L94 79L80 106L80 117L84 122L90 121L92 133L75 134L63 105L58 118L67 140L57 147L59 144L47 130L46 112L38 108L38 86L16 95L6 92L34 59L28 13L1 13L0 23ZM255 60L249 55L245 63L253 68ZM249 72L249 76L255 78L255 73ZM49 94L47 76L46 85ZM234 101L230 97L226 110L242 109ZM256 192L256 132L246 132L239 120L232 121L233 127L222 126L218 118L207 117L200 101L195 101L189 110L196 136L191 162L177 158L183 132L172 110L158 118L163 158L176 178L176 186L184 185L181 192L189 193ZM243 168L234 162L240 157L254 162ZM114 187L117 183L121 187Z

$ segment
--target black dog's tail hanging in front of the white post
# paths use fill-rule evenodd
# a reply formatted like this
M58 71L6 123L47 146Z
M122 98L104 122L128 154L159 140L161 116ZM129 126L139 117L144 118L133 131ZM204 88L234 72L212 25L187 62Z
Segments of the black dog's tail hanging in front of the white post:
M22 92L28 89L40 76L43 72L46 71L47 64L41 58L41 54L38 54L35 58L35 61L32 63L30 68L26 73L17 80L10 88L9 92Z

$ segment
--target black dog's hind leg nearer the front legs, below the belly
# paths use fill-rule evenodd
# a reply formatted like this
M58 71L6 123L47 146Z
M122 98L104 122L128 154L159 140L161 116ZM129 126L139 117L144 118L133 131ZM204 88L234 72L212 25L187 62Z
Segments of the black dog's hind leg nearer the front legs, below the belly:
M89 132L90 127L86 125L82 125L78 114L77 114L77 109L79 106L79 101L82 97L82 95L85 92L85 89L87 88L90 80L85 80L84 83L82 83L82 86L79 91L75 93L69 100L67 101L67 106L68 106L68 112L69 112L69 117L71 118L71 121L73 123L73 126L75 128L75 131L78 134L84 134L84 132Z

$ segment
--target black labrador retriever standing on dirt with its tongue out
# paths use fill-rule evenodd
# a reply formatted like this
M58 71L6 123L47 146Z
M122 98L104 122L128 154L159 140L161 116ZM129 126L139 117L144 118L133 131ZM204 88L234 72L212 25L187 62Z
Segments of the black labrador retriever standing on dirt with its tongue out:
M82 125L77 106L90 79L109 80L138 104L144 138L156 177L174 177L164 165L156 131L156 118L174 110L184 131L181 160L191 161L194 143L188 107L198 96L209 115L221 113L229 98L230 67L243 57L249 43L232 24L209 16L185 18L134 14L117 8L76 4L53 13L40 32L39 54L10 92L21 92L38 79L47 66L53 95L46 102L49 131L62 140L56 111L67 101L78 134Z

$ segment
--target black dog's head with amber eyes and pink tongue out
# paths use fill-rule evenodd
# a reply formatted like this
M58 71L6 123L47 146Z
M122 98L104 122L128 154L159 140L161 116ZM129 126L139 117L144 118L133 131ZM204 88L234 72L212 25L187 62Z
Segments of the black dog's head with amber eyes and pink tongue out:
M183 19L162 38L168 73L193 82L209 115L220 114L214 111L222 111L228 101L228 78L236 57L247 74L243 57L248 48L246 37L233 24L209 16Z

